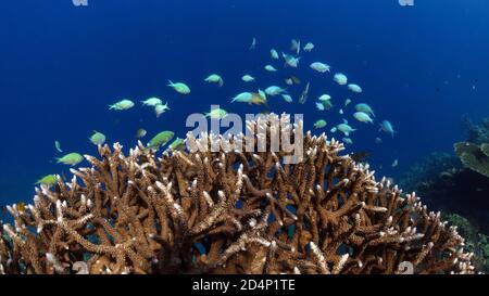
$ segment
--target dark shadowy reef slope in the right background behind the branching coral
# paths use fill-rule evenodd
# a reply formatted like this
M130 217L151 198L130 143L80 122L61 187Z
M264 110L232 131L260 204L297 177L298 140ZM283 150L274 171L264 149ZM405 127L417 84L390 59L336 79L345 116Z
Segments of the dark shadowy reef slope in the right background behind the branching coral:
M441 209L459 227L475 253L479 270L489 271L489 118L462 119L466 141L451 153L435 152L403 173L398 183L416 191L429 207Z

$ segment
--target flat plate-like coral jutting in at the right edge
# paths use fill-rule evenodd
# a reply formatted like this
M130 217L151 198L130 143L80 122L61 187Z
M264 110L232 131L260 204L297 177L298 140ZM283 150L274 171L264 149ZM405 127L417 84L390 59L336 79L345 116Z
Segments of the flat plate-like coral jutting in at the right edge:
M459 142L454 144L454 149L466 167L489 178L489 142L480 145Z

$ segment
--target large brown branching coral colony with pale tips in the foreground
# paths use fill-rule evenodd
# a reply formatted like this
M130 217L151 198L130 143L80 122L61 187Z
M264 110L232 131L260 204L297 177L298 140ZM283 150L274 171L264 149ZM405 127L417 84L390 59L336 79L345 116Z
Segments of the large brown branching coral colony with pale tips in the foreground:
M456 229L414 193L375 181L324 134L303 146L293 165L285 153L159 158L140 143L129 155L101 146L71 182L9 208L0 272L402 273L408 262L414 273L474 273Z

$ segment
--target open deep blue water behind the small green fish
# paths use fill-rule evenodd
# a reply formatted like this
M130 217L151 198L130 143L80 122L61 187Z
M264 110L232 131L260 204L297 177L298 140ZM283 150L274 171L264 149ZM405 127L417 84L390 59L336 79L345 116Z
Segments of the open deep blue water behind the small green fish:
M71 0L3 0L0 204L30 201L33 183L43 175L70 176L54 162L55 140L65 152L96 154L88 141L93 129L125 147L135 145L138 128L148 130L146 140L167 129L181 138L187 115L212 103L241 115L262 112L229 99L284 86L290 73L302 79L290 88L296 102L272 98L272 111L304 114L306 129L321 118L328 121L326 131L349 119L359 130L348 152L371 151L372 166L384 164L379 175L399 176L429 152L451 151L464 139L463 114L475 120L489 115L489 2L414 1L406 8L397 0L89 0L77 8ZM253 37L256 50L249 51ZM294 72L269 59L272 48L286 51L292 38L316 46ZM333 73L313 72L309 64L315 61L347 74L364 92L354 95L333 81ZM266 73L267 63L279 72ZM202 81L211 73L223 76L223 88ZM258 83L242 82L247 73ZM175 93L167 79L187 82L191 94ZM300 105L308 80L310 98ZM316 111L322 93L333 96L333 111ZM161 118L139 103L108 111L123 98L152 95L170 102ZM376 124L355 121L353 104L339 115L346 98L373 106ZM378 133L379 119L399 133ZM381 144L374 143L378 136ZM391 168L396 158L399 166Z

